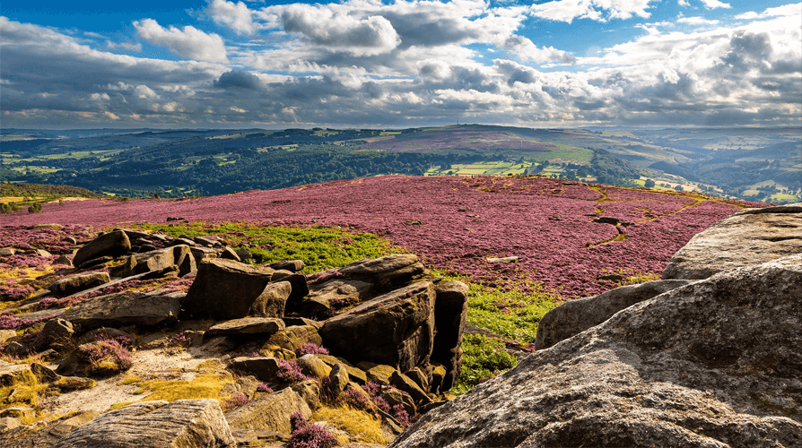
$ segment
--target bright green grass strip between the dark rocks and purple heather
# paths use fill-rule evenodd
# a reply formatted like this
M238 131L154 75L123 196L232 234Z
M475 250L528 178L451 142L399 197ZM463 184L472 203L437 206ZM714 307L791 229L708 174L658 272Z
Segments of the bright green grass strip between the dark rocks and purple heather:
M305 273L326 271L363 258L378 258L404 253L385 239L368 233L351 233L343 228L277 227L254 223L205 224L140 224L137 227L170 235L170 237L224 236L233 247L248 245L253 263L302 260Z

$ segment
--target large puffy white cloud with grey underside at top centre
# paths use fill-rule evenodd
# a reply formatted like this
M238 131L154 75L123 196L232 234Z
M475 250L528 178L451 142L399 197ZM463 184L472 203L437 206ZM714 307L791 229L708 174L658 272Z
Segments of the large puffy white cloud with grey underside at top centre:
M327 7L291 4L282 14L282 22L289 33L357 56L387 53L401 42L392 23L379 15L355 18Z

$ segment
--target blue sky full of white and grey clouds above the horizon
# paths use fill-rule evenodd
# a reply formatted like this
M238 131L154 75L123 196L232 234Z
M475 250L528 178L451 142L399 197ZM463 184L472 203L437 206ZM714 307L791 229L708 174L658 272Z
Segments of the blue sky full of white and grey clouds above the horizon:
M4 0L0 126L802 125L787 0Z

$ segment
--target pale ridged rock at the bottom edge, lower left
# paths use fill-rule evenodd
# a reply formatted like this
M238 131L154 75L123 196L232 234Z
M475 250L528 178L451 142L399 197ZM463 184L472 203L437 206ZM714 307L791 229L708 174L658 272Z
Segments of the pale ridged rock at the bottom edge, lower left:
M235 446L216 400L144 401L78 426L54 448Z

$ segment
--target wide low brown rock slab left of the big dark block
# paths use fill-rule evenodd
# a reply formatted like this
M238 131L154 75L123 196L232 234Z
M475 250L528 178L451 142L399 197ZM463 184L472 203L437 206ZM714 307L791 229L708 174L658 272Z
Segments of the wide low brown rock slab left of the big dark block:
M175 322L180 312L177 298L124 291L83 301L61 314L61 318L83 329L94 329Z

